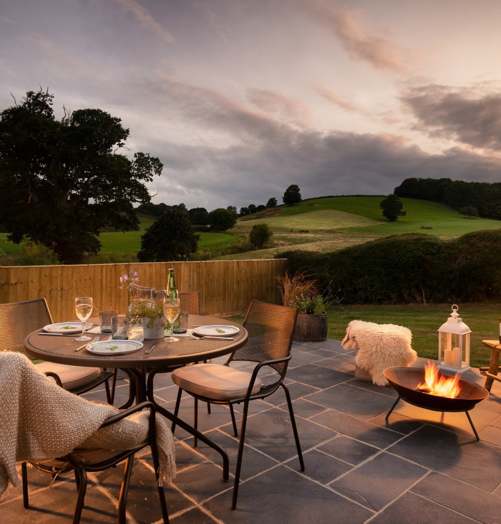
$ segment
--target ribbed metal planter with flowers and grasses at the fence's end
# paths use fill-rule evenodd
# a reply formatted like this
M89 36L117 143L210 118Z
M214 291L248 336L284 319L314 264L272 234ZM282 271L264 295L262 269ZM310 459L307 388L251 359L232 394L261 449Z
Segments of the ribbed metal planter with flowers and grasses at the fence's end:
M293 339L303 342L322 342L327 339L327 303L318 292L317 282L307 280L299 271L278 277L284 305L299 309Z

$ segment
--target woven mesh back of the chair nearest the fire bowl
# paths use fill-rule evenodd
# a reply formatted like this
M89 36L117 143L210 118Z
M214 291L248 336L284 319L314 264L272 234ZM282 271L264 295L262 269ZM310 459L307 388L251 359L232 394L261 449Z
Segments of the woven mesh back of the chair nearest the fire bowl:
M230 361L264 362L289 356L297 315L296 307L253 300L243 323L249 333L247 342L233 353ZM271 367L283 378L287 362Z

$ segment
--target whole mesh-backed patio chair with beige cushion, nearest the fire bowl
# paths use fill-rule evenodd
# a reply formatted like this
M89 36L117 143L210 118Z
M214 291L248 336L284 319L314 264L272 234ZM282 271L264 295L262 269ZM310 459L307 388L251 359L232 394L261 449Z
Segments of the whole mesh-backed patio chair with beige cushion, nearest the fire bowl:
M172 381L179 386L174 413L177 416L181 394L184 390L194 398L193 425L195 429L197 428L198 401L202 400L228 406L230 408L234 435L238 436L233 405L244 403L233 486L232 509L236 508L238 496L249 401L269 397L279 387L282 387L285 391L299 464L301 471L304 471L304 462L292 410L292 402L289 390L284 384L287 365L291 359L292 334L296 325L297 314L298 309L296 307L268 304L253 300L251 305L249 305L243 323L249 334L247 342L243 347L232 353L223 365L196 364L194 366L181 367L172 372ZM245 373L230 367L231 362L237 361L256 362L257 365L252 374ZM262 383L257 377L259 370L264 366L269 366L276 372L270 376L269 384ZM175 424L172 425L172 432L174 430ZM196 444L195 440L194 445Z

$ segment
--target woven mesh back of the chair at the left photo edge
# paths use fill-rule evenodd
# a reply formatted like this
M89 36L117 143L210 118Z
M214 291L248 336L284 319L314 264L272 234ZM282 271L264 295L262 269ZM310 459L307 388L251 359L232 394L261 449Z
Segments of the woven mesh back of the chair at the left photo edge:
M45 298L0 304L0 351L16 351L33 360L24 338L48 324L52 324L52 317Z

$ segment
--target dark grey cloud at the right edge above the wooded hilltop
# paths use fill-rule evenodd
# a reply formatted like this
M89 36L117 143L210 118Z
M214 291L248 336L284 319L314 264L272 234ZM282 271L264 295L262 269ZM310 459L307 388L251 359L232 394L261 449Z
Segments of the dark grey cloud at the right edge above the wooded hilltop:
M417 118L415 129L476 148L501 151L499 85L411 86L402 93L401 100Z

